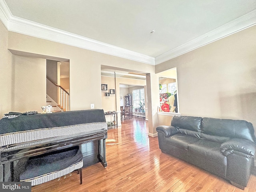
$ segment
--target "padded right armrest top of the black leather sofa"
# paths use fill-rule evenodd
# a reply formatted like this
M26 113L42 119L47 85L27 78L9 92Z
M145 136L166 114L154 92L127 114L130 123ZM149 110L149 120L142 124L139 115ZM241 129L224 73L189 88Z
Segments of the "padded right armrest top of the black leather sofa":
M255 154L255 148L256 145L252 141L241 138L232 138L221 144L220 151L225 156L234 153L246 158L252 158Z

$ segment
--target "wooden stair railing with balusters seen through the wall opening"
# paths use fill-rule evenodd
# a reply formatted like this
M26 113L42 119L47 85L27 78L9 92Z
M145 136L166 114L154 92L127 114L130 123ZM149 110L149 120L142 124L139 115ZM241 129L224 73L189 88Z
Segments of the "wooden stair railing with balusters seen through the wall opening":
M58 89L58 106L63 111L69 111L70 110L70 96L69 93L60 85L54 83L48 76L46 76L46 79L48 79L52 84L54 84Z

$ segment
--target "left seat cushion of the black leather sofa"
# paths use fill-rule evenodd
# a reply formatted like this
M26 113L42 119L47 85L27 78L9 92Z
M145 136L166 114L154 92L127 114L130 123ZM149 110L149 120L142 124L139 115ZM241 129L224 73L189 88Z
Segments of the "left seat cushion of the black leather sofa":
M166 140L166 144L170 144L172 146L176 146L178 148L188 150L189 144L197 142L200 139L198 139L196 137L178 133L178 134L170 136L169 138L165 138L165 140Z

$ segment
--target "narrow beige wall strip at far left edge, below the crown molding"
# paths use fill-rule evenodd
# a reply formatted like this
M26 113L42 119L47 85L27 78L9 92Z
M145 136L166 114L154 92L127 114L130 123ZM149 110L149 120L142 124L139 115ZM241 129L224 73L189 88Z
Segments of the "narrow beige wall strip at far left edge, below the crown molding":
M8 31L0 21L0 118L14 110L14 64L7 49Z

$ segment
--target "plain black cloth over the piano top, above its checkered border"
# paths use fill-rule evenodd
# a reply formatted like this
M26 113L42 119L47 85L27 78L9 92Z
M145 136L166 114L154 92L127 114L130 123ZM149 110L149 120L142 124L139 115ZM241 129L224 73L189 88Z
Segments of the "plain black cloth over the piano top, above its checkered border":
M22 115L0 119L0 135L18 131L106 122L102 109Z

